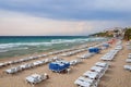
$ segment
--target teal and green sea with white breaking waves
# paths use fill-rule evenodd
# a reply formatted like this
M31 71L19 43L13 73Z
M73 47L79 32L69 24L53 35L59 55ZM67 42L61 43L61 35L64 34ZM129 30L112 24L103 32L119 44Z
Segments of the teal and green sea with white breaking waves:
M92 41L106 41L88 36L0 36L0 59L73 48Z

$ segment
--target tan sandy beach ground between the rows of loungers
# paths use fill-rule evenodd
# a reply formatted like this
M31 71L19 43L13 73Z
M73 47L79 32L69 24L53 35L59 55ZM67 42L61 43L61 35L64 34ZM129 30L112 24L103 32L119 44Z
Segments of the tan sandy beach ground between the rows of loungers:
M90 59L84 59L82 63L71 66L71 72L69 74L58 74L53 73L48 69L48 64L44 64L40 66L36 66L29 70L25 70L19 72L14 75L3 74L3 71L10 69L12 66L17 66L21 64L34 62L37 60L32 60L27 62L16 63L8 66L3 66L0 69L0 87L32 87L32 85L25 82L25 77L32 75L34 73L44 74L47 73L49 75L49 79L46 79L39 84L36 84L35 87L78 87L74 85L74 80L82 76L84 72L90 71L90 69L96 63L100 62L99 59L109 50L115 48L115 44L111 45L108 49L102 50L100 53L91 57ZM126 42L122 42L123 49L120 50L117 55L115 57L114 61L109 62L110 67L107 70L105 75L100 78L98 87L131 87L131 73L129 71L123 70L123 65L130 64L126 63L126 59L128 58L128 53L131 50L128 50L126 47ZM70 61L76 59L76 55L87 53L87 51L76 53L71 57L61 57L62 59ZM40 58L47 59L56 57L57 54ZM23 57L22 57L23 58ZM12 58L12 59L2 59L0 62L10 61L20 58Z

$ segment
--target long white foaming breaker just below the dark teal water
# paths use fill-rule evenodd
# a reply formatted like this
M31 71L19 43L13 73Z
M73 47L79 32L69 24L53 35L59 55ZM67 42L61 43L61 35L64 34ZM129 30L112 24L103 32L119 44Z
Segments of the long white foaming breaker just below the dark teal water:
M86 42L86 41L94 41L94 40L99 40L104 38L76 38L76 39L52 39L51 41L46 41L46 42L12 42L12 44L0 44L0 50L9 50L12 48L17 48L17 49L28 49L26 47L29 46L52 46L56 44L73 44L73 42Z

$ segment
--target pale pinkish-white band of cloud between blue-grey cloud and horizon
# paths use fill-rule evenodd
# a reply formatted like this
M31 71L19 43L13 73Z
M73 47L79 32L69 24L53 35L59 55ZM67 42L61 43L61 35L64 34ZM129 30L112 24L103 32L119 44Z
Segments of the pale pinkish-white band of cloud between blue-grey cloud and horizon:
M123 27L130 24L122 21L61 21L4 10L1 10L0 14L0 36L87 36L107 27Z

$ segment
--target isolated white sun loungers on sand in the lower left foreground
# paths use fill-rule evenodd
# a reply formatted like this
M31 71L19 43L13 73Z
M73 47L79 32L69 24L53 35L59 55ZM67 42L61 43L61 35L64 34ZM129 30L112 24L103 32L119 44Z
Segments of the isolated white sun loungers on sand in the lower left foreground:
M31 76L27 76L25 78L25 80L26 80L26 83L29 83L29 84L32 84L34 86L35 84L38 84L38 83L40 83L40 82L43 82L45 79L48 79L48 78L49 78L49 76L46 73L43 74L43 75L32 74Z

